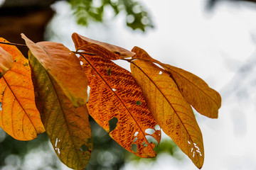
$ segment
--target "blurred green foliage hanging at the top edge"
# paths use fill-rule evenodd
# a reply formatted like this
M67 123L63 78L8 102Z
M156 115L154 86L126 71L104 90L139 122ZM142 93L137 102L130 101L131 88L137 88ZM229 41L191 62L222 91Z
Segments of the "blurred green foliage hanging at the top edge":
M90 21L102 22L105 16L106 7L112 8L114 16L120 11L126 13L126 23L133 30L139 29L145 31L146 28L153 28L153 23L149 14L134 0L69 0L72 8L75 10L75 16L78 23L87 26Z

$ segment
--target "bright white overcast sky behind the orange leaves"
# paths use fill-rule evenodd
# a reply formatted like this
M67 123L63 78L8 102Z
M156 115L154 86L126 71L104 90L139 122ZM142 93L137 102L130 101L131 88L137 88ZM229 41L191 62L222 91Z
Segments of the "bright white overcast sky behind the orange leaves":
M156 25L147 33L129 30L123 16L89 28L76 26L68 6L60 2L55 6L58 16L50 24L56 34L51 40L73 47L70 36L76 32L128 50L136 45L156 60L198 75L220 94L234 86L230 82L233 82L235 73L255 52L255 4L238 6L224 2L210 13L206 11L204 0L142 2ZM121 64L129 69L129 64ZM251 79L248 75L246 82L251 82ZM247 88L246 84L244 87ZM255 86L250 86L250 91L256 92ZM223 96L217 120L197 117L205 145L204 170L256 169L255 101L254 93L242 100L235 97L234 91L234 94ZM130 162L124 169L193 170L196 166L187 158L176 162L172 157L159 155L156 164Z

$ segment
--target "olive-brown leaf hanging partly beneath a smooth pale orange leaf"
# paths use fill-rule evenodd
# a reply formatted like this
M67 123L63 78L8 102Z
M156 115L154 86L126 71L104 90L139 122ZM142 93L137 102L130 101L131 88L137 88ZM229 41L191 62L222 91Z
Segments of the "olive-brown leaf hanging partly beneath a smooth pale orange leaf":
M85 169L92 152L92 135L86 106L75 108L58 83L28 52L35 86L36 106L50 142L61 162Z

